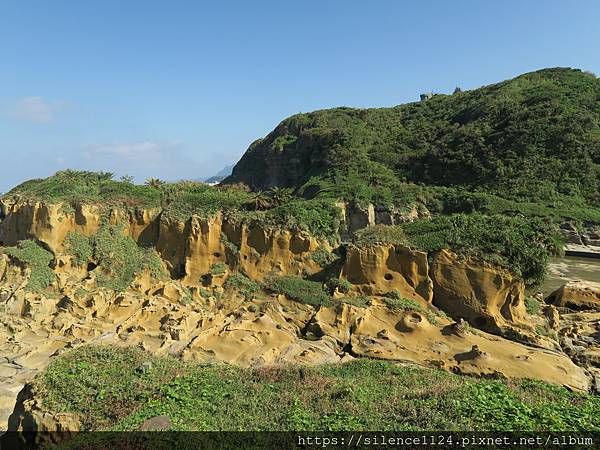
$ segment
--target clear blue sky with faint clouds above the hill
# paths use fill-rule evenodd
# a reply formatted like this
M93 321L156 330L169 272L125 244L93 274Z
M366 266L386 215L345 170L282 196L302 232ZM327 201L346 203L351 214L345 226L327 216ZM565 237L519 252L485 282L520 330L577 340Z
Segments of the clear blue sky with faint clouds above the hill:
M62 168L202 178L298 112L600 74L599 22L597 0L4 1L0 192Z

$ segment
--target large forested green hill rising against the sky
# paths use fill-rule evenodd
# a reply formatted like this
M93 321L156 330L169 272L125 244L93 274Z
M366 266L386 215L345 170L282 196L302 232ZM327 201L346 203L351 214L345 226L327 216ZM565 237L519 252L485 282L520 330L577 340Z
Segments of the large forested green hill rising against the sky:
M502 200L599 206L599 175L600 80L554 68L393 108L289 117L251 144L225 182L378 204L461 195L477 204L484 194L504 212Z

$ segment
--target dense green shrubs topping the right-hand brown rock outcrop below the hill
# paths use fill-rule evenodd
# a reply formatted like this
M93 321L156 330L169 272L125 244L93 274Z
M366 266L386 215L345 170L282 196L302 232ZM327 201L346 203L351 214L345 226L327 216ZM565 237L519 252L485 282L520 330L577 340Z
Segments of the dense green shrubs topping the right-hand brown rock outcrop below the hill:
M544 279L549 256L562 252L554 227L541 219L479 213L437 216L395 227L379 225L356 233L359 246L375 242L476 256L511 270L530 286Z

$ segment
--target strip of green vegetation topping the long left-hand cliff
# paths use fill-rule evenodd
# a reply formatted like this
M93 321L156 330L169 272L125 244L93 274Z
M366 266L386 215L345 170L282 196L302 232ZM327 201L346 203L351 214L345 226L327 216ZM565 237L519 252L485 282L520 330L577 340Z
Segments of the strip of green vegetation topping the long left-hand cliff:
M45 179L22 183L5 197L60 202L64 212L73 212L82 203L98 203L105 210L160 208L165 218L182 221L193 215L207 218L223 212L240 222L304 230L335 240L341 214L332 200L298 199L289 189L273 188L260 194L266 203L257 207L254 200L257 195L235 187L193 181L165 183L150 179L147 185L140 186L130 180L115 181L110 173L64 170Z

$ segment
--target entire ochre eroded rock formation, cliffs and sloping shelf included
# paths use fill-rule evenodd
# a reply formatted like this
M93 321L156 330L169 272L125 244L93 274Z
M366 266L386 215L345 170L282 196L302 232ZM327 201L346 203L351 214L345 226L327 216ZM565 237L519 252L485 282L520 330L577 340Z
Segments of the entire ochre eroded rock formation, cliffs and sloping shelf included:
M160 211L103 211L90 205L69 209L26 202L2 208L4 244L42 243L54 255L57 280L47 291L27 292L30 268L0 255L0 354L8 355L0 361L0 385L13 394L52 358L85 343L134 345L186 360L244 366L373 357L457 373L534 377L581 391L592 383L591 369L561 351L557 317L535 319L555 338L533 331L521 281L451 252L348 246L333 275L350 283L349 296L369 296L369 303L311 306L268 291L249 297L223 283L233 272L254 282L273 274L318 274L323 267L313 253L332 248L300 231L245 224L222 214L181 221ZM171 279L139 274L117 293L96 284L93 268L74 266L64 239L70 232L91 235L103 220L122 224L138 243L154 245ZM412 306L402 300L398 308L390 307L390 292ZM6 417L14 398L4 402L0 416ZM27 390L11 424L11 429L76 429L71 417L44 412Z

